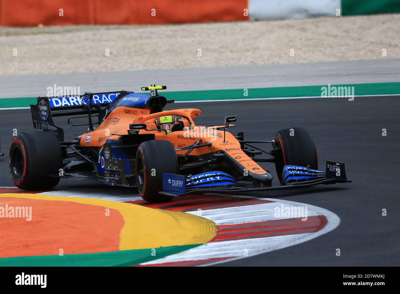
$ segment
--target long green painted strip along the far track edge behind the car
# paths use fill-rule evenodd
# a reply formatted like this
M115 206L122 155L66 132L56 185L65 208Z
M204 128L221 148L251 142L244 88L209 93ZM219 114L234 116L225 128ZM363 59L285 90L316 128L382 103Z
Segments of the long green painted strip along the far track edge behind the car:
M250 88L248 96L244 96L244 89L232 90L200 90L200 91L179 91L160 92L168 99L176 101L194 100L224 100L224 99L255 99L255 98L276 98L276 97L312 97L321 95L320 86L298 86L298 87L273 87L273 88ZM349 87L354 86L355 95L387 95L400 94L400 82L394 83L370 83L370 84L332 84L331 86ZM36 104L35 97L23 98L2 98L0 108L29 107L29 104Z

